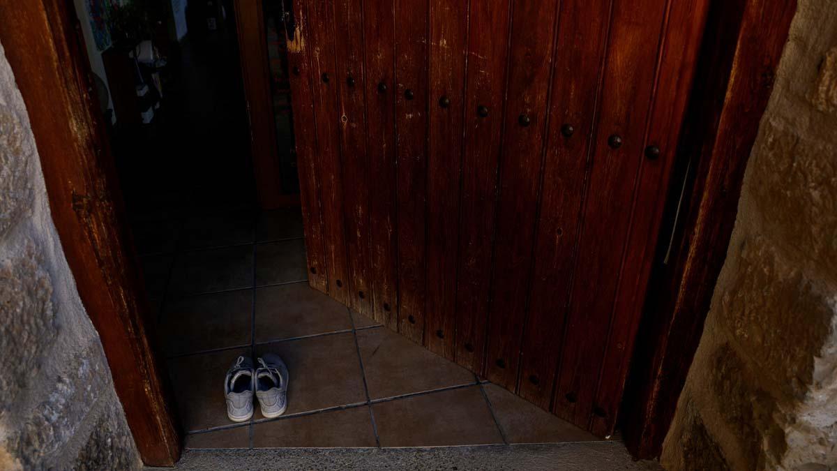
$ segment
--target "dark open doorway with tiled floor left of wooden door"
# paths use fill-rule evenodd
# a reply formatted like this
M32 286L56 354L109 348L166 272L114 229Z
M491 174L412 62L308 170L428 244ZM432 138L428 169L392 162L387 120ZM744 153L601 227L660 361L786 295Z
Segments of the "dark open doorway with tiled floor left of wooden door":
M76 14L186 448L597 440L309 287L285 5L90 4ZM267 352L288 410L231 422L224 375Z

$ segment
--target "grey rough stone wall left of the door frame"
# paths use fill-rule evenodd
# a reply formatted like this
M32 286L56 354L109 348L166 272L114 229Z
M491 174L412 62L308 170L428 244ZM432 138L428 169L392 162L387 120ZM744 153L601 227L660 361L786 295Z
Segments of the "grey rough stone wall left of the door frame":
M139 468L0 45L0 469Z

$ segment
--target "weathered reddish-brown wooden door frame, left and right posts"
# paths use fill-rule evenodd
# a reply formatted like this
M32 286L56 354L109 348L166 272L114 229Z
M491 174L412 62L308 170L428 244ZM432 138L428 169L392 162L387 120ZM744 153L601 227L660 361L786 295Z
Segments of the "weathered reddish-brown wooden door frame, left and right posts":
M673 222L660 237L658 258L668 253L668 263L655 267L622 407L634 456L657 456L674 416L795 10L795 0L712 1L680 140L683 176L670 185ZM151 348L150 309L77 23L63 0L0 0L0 42L27 106L64 255L143 462L172 466L182 434Z

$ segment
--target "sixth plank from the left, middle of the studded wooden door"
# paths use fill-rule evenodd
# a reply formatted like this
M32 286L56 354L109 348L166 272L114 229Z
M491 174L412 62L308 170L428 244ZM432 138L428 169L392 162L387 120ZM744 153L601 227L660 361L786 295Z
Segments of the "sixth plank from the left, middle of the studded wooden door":
M427 346L454 359L468 2L430 0ZM443 101L444 100L446 101Z

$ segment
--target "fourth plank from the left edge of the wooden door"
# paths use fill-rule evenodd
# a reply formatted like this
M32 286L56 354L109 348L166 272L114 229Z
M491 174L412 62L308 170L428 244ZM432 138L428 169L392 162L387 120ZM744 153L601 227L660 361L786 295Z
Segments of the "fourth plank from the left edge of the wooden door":
M393 0L363 2L374 317L398 330Z

